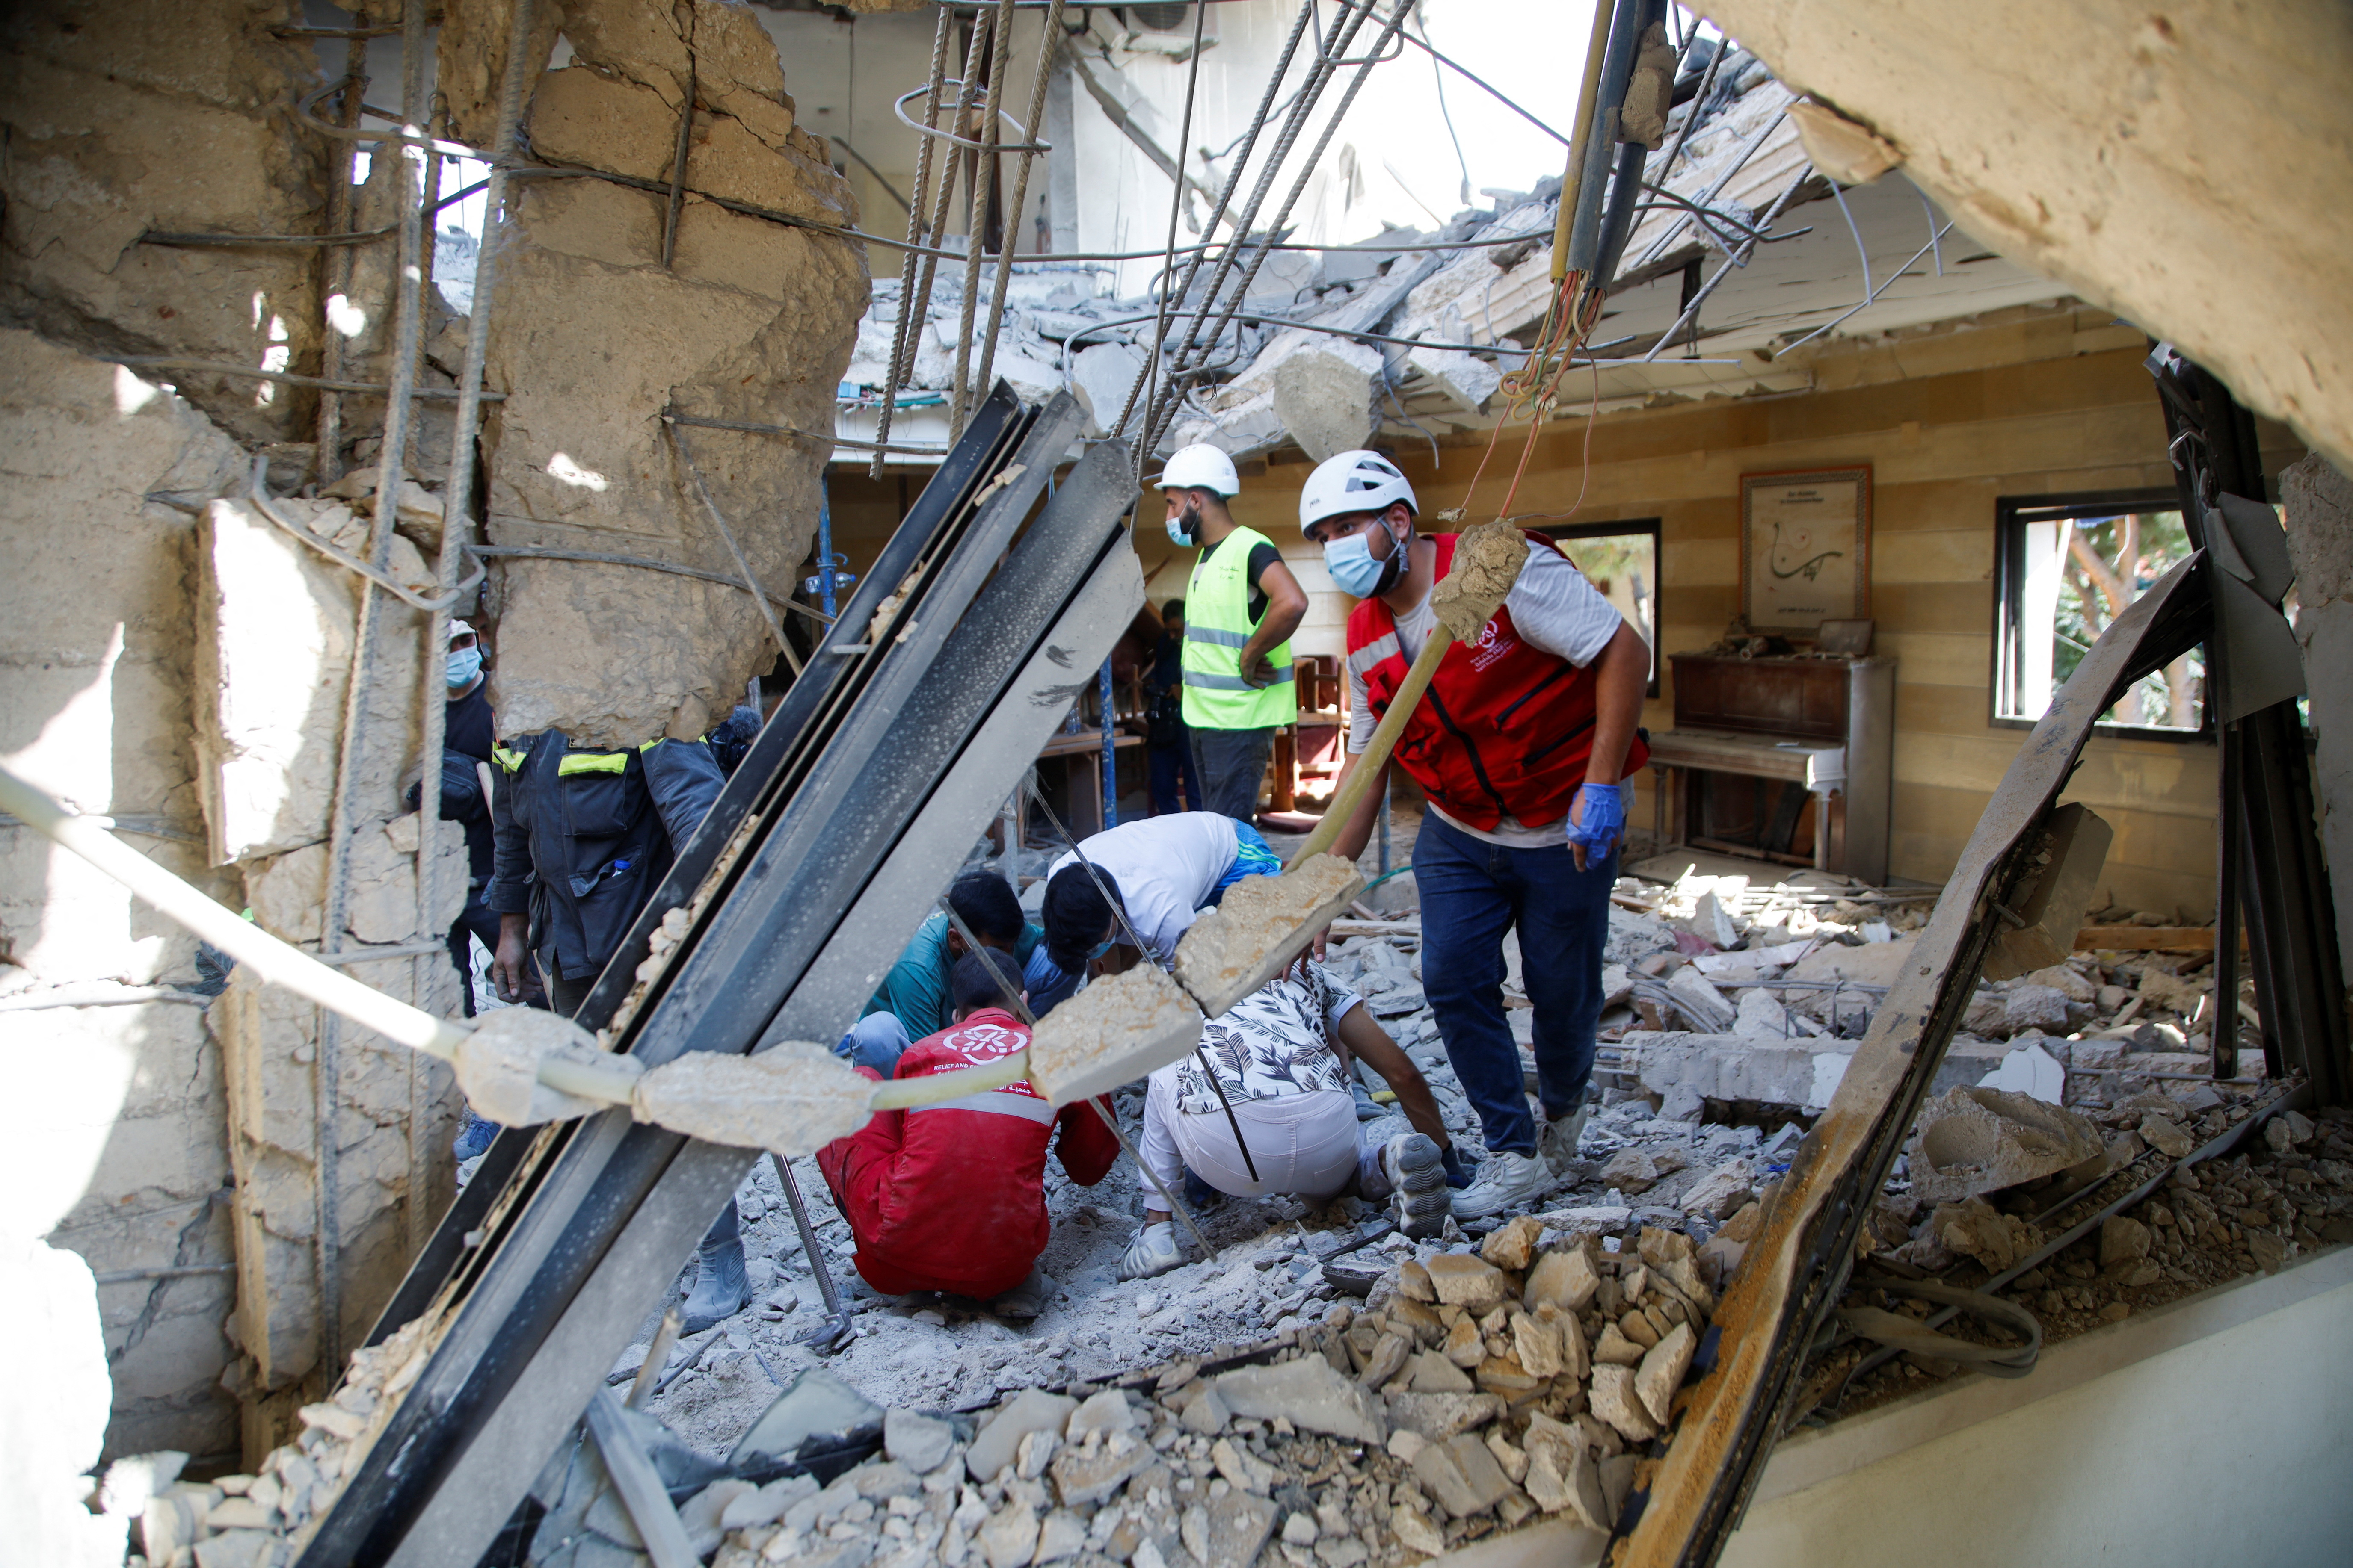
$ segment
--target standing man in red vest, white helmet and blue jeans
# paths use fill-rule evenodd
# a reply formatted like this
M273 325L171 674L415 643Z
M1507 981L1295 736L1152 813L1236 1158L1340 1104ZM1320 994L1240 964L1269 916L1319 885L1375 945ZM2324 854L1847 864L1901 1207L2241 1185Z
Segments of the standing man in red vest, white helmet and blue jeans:
M1341 451L1299 491L1299 527L1322 545L1348 616L1348 750L1362 752L1405 672L1435 632L1431 588L1454 534L1419 534L1414 487L1377 451ZM1619 780L1649 750L1635 733L1649 646L1548 538L1478 642L1454 644L1398 738L1388 766L1421 785L1414 842L1421 985L1447 1060L1487 1143L1464 1220L1546 1187L1577 1154L1602 1009L1609 886L1626 827ZM1355 769L1351 755L1348 769ZM1346 773L1344 773L1346 778ZM1365 851L1379 783L1332 853ZM1529 1114L1520 1048L1504 1020L1504 933L1520 929L1520 973L1537 1009Z

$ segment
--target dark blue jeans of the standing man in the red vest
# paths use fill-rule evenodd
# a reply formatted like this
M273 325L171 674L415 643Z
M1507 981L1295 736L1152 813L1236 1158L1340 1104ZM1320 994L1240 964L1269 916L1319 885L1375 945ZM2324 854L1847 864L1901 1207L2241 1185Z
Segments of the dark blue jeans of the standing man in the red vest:
M1520 978L1537 1006L1537 1098L1548 1119L1567 1117L1593 1079L1614 882L1617 851L1577 870L1567 844L1506 849L1435 811L1421 818L1421 987L1494 1154L1537 1152L1520 1048L1504 1020L1504 933L1520 926Z

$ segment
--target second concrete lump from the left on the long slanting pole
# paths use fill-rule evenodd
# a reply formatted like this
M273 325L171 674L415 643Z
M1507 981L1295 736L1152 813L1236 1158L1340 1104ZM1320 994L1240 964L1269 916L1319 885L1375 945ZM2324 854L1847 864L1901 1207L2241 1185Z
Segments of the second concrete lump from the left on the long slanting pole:
M687 1051L638 1079L631 1114L704 1143L791 1157L866 1126L871 1095L873 1081L849 1063L786 1039L755 1056Z

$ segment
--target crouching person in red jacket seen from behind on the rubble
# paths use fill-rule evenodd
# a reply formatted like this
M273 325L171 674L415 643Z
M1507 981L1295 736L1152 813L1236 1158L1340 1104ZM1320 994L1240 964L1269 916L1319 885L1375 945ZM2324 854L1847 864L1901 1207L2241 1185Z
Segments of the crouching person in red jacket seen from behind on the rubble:
M908 1046L894 1077L979 1067L1028 1046L1028 1027L1009 1011L1021 994L1021 969L1009 954L967 952L951 985L955 1023ZM875 1291L946 1291L986 1300L1000 1316L1031 1319L1054 1291L1038 1267L1052 1234L1049 1143L1082 1187L1104 1180L1120 1157L1094 1105L1056 1114L1026 1081L1014 1081L946 1105L875 1112L864 1128L819 1150L816 1168L859 1241L859 1274Z

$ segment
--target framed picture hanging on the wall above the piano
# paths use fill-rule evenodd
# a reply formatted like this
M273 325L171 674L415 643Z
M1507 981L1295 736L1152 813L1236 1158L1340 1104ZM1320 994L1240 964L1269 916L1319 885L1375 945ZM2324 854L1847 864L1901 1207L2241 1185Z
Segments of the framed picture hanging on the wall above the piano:
M1871 465L1741 475L1741 618L1812 637L1871 616Z

